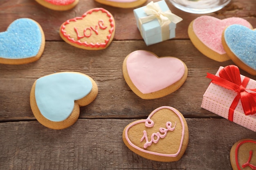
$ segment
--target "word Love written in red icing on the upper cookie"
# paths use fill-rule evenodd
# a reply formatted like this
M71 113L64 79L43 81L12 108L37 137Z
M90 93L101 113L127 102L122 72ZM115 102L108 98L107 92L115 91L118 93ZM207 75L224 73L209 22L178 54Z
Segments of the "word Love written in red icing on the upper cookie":
M99 28L102 29L102 30L104 30L108 27L108 26L103 26L103 24L104 24L104 21L99 20L98 25L99 25ZM95 28L93 28L92 26L85 28L83 30L83 36L80 36L79 33L78 33L77 28L74 27L74 30L76 31L76 35L77 35L77 40L80 40L81 38L84 38L84 37L89 38L92 35L92 31L94 31L94 33L96 33L96 35L99 35L98 25L95 25Z

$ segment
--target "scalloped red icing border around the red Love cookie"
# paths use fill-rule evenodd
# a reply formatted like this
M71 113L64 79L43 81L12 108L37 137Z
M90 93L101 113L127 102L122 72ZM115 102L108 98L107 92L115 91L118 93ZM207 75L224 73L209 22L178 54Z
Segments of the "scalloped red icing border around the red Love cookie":
M106 13L107 16L109 17L109 22L110 22L110 26L111 28L109 29L109 35L107 35L107 39L105 40L105 43L96 43L96 44L93 44L92 42L91 43L87 43L87 42L81 42L80 40L74 40L74 38L70 38L70 35L67 35L66 34L66 31L64 30L66 27L65 25L66 24L69 24L70 21L77 21L77 20L81 20L83 19L87 14L91 14L92 12L98 12L98 11L102 11L102 13ZM88 46L88 47L92 47L92 48L99 48L99 47L106 47L106 45L108 44L110 38L111 38L111 35L114 31L114 28L115 28L115 24L114 24L114 18L112 17L111 13L108 12L106 9L103 9L103 8L94 8L94 9L90 9L89 11L87 11L86 13L84 13L82 15L82 17L76 17L76 18L73 18L73 19L70 19L70 20L67 20L61 27L61 33L63 34L63 36L65 38L67 38L67 40L69 40L70 42L72 43L75 43L75 44L78 44L78 45L83 45L83 46Z

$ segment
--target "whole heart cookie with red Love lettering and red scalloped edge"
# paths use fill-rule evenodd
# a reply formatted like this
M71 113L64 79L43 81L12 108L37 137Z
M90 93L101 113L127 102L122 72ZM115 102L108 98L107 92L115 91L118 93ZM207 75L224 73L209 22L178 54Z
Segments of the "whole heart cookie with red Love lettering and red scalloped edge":
M103 8L90 9L82 17L67 20L61 25L61 38L81 49L106 49L115 34L115 21Z

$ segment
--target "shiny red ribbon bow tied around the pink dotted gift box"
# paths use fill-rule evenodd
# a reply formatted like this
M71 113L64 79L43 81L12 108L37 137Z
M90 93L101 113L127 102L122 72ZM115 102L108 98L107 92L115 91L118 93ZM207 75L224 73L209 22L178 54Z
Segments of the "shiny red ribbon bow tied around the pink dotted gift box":
M249 93L246 90L254 91L255 89L246 89L249 82L249 77L245 77L243 82L241 82L240 71L237 66L229 65L224 67L219 76L207 73L207 78L212 79L211 82L214 84L218 84L222 87L225 87L230 90L234 90L237 95L233 100L230 108L229 108L229 120L233 121L234 110L241 99L241 103L243 106L243 110L245 115L253 115L256 113L256 93Z

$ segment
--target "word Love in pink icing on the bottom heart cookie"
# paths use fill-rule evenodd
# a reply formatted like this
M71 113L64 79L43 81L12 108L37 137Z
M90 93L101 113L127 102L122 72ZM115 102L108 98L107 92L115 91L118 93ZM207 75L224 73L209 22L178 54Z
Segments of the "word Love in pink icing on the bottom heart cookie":
M146 140L146 143L144 144L144 148L147 148L148 146L152 145L153 142L156 144L160 138L166 137L168 131L173 131L175 129L176 122L175 122L175 125L173 126L173 128L171 126L172 126L172 123L170 121L167 121L166 128L159 128L159 131L164 134L161 134L160 132L153 133L151 135L150 141L148 141L147 132L146 132L146 130L144 130L143 137L140 139L140 142L142 142L144 139ZM155 139L155 137L156 137L156 139Z

